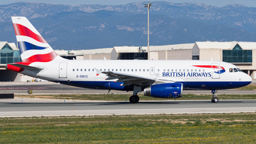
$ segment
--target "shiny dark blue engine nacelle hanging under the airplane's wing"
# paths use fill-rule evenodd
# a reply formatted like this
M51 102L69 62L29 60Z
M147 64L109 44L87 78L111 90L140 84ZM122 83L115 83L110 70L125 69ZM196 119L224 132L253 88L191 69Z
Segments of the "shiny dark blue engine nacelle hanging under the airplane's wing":
M144 89L144 95L170 99L182 97L182 91L182 83L162 83L148 86Z

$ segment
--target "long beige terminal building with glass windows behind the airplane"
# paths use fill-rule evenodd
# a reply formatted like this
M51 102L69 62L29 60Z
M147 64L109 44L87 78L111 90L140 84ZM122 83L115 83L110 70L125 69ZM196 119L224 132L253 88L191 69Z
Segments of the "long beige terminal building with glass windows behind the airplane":
M33 77L5 70L7 63L19 62L14 43L0 42L0 81L31 81ZM145 46L122 46L77 51L55 50L68 60L148 60ZM193 44L150 46L150 60L216 60L239 67L256 79L256 42L195 42Z

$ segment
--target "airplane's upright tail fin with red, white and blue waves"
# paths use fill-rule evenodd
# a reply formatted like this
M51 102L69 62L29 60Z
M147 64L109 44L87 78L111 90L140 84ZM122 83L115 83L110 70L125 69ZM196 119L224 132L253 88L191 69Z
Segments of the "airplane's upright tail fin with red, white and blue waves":
M61 58L26 17L12 17L22 62L49 62Z

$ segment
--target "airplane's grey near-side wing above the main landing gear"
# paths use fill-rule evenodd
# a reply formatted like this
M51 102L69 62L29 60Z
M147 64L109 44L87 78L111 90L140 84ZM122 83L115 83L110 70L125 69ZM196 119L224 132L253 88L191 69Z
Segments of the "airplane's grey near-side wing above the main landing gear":
M94 68L97 71L97 76L102 73L106 74L108 78L106 80L118 79L116 83L124 82L123 86L129 86L135 84L137 86L149 86L153 84L156 79L150 77L141 77L132 74L123 74L120 72L102 72L101 70Z

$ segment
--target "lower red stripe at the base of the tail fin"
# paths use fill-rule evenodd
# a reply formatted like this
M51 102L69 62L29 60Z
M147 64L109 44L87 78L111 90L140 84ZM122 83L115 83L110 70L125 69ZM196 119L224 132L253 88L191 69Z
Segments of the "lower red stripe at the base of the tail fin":
M23 62L49 62L54 60L58 54L52 51L48 54L35 54L34 56L30 56L29 58L22 60Z

